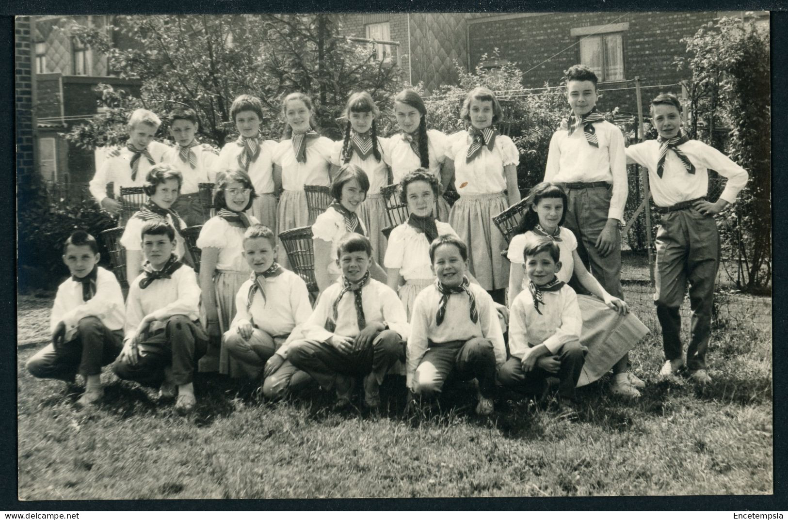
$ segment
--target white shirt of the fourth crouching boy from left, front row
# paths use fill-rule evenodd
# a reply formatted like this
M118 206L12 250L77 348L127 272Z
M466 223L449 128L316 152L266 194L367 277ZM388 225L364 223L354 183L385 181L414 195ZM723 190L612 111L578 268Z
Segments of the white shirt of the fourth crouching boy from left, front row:
M359 335L359 318L355 310L355 294L352 291L346 292L337 306L334 332L325 329L325 320L333 315L334 300L342 291L341 284L341 280L337 281L320 295L318 305L302 327L303 337L307 340L326 341L334 335ZM407 324L405 307L402 306L400 297L388 285L370 278L369 284L361 291L361 306L366 323L385 321L389 329L407 340L411 327Z

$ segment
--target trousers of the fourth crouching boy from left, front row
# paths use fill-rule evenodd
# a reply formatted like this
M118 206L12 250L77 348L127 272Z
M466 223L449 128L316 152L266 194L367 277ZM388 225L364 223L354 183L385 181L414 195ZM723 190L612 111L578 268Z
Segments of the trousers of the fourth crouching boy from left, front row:
M377 384L383 382L388 369L400 359L402 338L392 330L384 330L369 348L344 354L322 341L299 340L288 351L288 361L303 370L325 390L334 387L336 374L366 376L372 373Z

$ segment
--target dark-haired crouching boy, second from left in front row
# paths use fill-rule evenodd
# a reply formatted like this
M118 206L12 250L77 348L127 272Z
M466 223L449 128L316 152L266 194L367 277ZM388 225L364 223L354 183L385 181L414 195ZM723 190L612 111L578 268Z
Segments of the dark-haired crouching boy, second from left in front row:
M199 285L194 269L173 254L171 225L148 221L141 235L147 262L129 284L125 346L113 370L121 379L160 385L160 399L177 395L176 410L185 413L195 407L191 381L208 340L197 321Z

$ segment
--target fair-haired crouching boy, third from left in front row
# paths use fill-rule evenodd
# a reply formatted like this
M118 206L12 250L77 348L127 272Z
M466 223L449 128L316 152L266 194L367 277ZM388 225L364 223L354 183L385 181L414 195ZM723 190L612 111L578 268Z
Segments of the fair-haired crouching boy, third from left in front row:
M249 226L243 233L243 258L252 274L238 290L236 317L224 342L229 355L253 379L261 375L264 366L273 373L284 364L284 356L275 354L277 348L312 314L307 284L296 273L283 269L276 257L273 231L264 225Z

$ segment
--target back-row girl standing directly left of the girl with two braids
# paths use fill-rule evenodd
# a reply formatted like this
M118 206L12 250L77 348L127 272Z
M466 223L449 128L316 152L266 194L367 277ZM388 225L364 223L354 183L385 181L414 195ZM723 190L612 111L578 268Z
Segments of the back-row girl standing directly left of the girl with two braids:
M284 98L282 116L287 122L284 139L273 151L275 181L284 188L277 207L277 236L309 225L306 184L329 186L333 141L315 132L312 100L293 92ZM279 177L279 178L277 178ZM284 258L283 258L284 260Z

